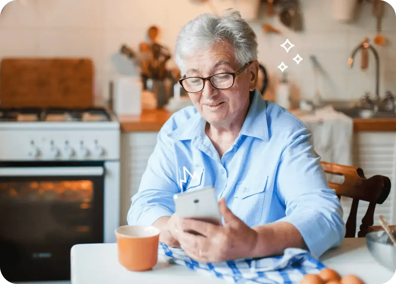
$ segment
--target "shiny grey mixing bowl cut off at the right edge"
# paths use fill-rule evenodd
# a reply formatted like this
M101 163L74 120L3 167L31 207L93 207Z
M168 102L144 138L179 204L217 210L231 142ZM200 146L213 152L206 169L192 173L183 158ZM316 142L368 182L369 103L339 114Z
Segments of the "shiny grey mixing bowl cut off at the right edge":
M396 231L392 231L396 238ZM391 272L396 271L396 246L385 231L366 234L366 244L373 258Z

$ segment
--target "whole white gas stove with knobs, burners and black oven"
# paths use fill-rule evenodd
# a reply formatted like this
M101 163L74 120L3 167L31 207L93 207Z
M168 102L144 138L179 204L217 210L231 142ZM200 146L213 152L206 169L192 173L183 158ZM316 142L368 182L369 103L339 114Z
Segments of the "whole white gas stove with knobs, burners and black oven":
M115 242L120 123L104 108L0 108L0 266L70 280L70 248Z

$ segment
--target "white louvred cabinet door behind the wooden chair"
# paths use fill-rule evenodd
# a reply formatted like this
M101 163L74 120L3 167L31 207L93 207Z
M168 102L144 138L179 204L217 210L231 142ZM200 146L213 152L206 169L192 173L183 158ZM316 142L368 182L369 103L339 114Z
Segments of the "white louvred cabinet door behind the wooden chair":
M354 135L353 142L353 165L363 169L364 175L369 178L373 175L383 175L390 178L392 188L385 202L381 205L377 204L374 213L374 225L380 225L378 221L379 215L384 215L389 224L395 224L395 132L358 132ZM342 198L341 204L344 209L344 220L348 219L350 198ZM362 218L367 211L368 202L359 201L357 214L357 230L361 224Z

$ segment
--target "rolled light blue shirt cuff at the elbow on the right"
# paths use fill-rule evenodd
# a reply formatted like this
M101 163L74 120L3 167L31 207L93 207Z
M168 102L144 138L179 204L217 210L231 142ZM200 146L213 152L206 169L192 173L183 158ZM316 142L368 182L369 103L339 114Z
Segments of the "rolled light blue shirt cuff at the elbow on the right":
M288 222L295 226L303 237L310 253L317 258L328 249L339 246L342 241L340 234L345 229L332 228L329 221L321 213L316 213L312 217L306 216L306 218L302 218L301 214L291 214L276 222Z

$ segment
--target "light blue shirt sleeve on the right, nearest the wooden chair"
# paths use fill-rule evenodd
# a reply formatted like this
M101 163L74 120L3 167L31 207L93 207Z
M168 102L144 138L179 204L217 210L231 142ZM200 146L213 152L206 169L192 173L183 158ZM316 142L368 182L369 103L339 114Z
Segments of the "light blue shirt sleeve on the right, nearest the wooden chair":
M343 209L329 188L308 129L293 131L278 167L277 189L286 204L286 221L301 233L310 253L320 257L345 236Z

